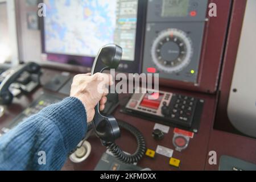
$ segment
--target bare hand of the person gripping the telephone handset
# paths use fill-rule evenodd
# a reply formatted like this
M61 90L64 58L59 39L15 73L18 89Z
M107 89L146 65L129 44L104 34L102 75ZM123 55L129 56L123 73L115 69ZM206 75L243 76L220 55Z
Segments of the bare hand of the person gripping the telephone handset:
M78 98L85 107L87 113L87 122L94 118L94 107L100 102L100 110L105 109L109 89L107 86L112 85L112 76L105 73L96 73L90 76L76 75L71 85L71 97Z

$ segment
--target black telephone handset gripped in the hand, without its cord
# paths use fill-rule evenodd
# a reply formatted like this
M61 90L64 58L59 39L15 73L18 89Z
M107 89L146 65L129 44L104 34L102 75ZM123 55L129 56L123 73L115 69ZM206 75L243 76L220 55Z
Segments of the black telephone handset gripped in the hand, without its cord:
M103 72L105 69L117 69L122 59L122 48L115 44L108 44L100 49L96 56L92 75ZM104 116L100 113L100 104L95 107L93 126L97 137L102 143L114 142L120 137L120 129L116 119L112 116Z

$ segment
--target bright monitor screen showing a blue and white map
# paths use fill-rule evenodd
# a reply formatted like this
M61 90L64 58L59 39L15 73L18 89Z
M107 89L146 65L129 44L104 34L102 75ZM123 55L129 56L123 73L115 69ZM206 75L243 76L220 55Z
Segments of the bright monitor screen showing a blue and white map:
M46 53L95 57L109 43L133 61L138 0L45 0Z

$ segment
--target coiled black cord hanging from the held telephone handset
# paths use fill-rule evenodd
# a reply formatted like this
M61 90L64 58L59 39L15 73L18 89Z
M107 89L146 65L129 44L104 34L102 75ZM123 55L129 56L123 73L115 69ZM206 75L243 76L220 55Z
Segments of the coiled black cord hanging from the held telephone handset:
M141 160L141 158L146 152L146 142L141 131L139 131L136 127L134 127L133 125L130 125L127 122L123 122L120 120L117 122L119 127L126 129L131 134L133 134L134 137L137 139L137 143L138 143L137 150L134 152L134 154L129 155L129 154L125 154L125 152L123 152L121 148L119 148L117 144L115 144L114 142L106 143L106 147L110 152L112 152L115 158L117 158L123 163L133 164L133 163L139 162L139 160Z

